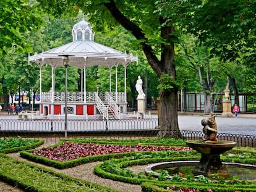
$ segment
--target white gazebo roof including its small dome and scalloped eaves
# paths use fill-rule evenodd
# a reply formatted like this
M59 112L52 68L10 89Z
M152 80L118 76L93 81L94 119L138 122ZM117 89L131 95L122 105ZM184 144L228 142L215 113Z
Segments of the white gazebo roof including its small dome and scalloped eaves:
M80 23L83 25L87 23L88 27L77 26ZM36 62L39 65L49 64L55 69L63 65L64 58L61 57L62 55L70 56L69 65L79 67L80 69L92 65L101 65L110 69L116 64L126 66L130 62L137 62L137 57L93 41L92 28L89 27L89 23L84 20L74 25L72 35L72 43L64 44L58 48L49 49L48 51L33 56L28 56L28 61Z

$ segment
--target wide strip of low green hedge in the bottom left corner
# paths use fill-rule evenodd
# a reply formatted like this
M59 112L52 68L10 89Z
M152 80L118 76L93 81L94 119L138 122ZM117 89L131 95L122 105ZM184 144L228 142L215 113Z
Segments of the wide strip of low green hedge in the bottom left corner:
M117 190L86 182L79 178L69 177L45 167L17 161L5 154L0 154L0 161L1 180L25 191L117 192ZM56 188L59 190L56 190Z

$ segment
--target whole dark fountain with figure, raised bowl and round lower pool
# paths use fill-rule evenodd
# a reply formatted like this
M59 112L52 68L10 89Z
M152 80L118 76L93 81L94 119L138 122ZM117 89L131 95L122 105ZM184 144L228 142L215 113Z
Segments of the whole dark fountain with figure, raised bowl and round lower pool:
M199 162L160 162L148 165L147 167L145 167L145 172L147 174L151 174L154 175L155 177L158 177L159 173L156 172L156 170L174 169L174 171L179 172L179 170L182 169L182 167L188 166L192 167L192 173L194 176L205 175L211 177L212 173L218 173L218 175L221 175L225 178L229 178L231 175L238 175L236 169L239 169L238 172L241 172L243 170L242 172L246 175L245 178L249 177L255 180L255 174L252 174L251 171L254 172L256 170L256 165L221 162L220 154L223 154L224 152L232 149L234 146L236 146L236 142L218 140L218 138L216 138L216 134L218 131L215 117L216 115L210 113L208 118L202 120L203 133L205 134L202 140L189 140L186 142L187 146L189 146L192 149L195 149L195 151L197 152L200 152L201 158ZM251 175L254 176L251 177Z

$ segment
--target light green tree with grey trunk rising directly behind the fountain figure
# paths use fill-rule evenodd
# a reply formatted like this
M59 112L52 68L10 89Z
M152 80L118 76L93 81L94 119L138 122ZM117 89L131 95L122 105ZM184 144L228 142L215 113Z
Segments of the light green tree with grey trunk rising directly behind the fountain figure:
M212 111L212 98L217 81L223 77L221 62L218 57L210 54L211 48L203 44L193 35L184 36L186 41L181 43L184 56L187 59L187 66L190 72L197 73L198 82L201 85L204 95L204 112ZM187 75L186 75L187 76Z

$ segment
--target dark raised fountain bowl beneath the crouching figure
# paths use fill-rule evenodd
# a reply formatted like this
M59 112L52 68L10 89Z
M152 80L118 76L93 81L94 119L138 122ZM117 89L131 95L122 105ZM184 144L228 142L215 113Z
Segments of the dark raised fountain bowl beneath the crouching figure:
M205 143L203 140L189 140L187 146L201 154L223 154L236 146L234 141L218 141L217 143Z

